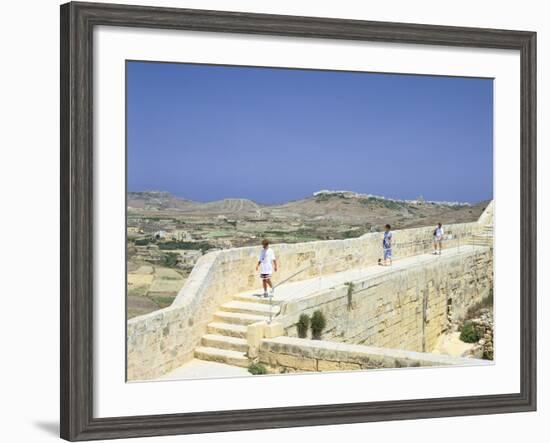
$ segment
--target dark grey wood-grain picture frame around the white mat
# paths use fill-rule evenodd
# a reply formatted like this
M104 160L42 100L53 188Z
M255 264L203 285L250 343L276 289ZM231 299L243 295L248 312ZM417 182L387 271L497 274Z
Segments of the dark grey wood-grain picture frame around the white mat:
M521 391L259 410L93 416L92 45L95 26L513 49L521 57ZM61 437L314 426L536 409L536 33L330 18L68 3L61 6Z

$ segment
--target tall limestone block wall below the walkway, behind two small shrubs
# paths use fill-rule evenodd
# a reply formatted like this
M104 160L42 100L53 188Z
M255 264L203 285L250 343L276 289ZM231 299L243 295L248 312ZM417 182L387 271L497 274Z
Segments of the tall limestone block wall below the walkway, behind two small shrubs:
M464 248L430 264L358 280L351 297L341 285L290 301L277 321L295 337L299 316L320 310L327 319L324 340L429 352L449 325L449 311L461 318L489 295L492 266L490 248Z

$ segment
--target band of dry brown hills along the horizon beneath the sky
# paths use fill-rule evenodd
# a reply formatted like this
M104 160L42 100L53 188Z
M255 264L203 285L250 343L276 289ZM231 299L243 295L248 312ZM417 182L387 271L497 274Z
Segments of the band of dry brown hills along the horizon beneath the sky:
M229 216L240 220L268 219L304 223L342 223L379 226L390 223L399 228L475 220L488 201L477 204L399 200L351 191L319 191L301 200L279 205L262 205L249 199L234 198L197 202L168 192L128 193L128 210L138 213L200 217Z

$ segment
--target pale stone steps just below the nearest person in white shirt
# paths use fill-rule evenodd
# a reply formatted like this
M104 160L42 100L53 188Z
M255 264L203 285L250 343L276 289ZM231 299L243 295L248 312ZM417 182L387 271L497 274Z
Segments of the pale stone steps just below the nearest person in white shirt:
M280 311L280 301L273 299L271 313ZM201 346L195 349L195 358L248 367L247 326L259 321L269 321L269 298L253 295L237 295L223 304L208 324Z

